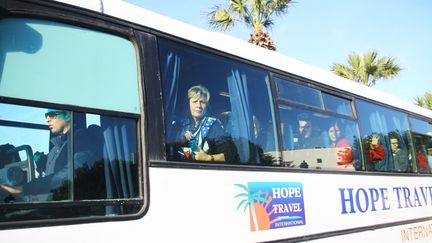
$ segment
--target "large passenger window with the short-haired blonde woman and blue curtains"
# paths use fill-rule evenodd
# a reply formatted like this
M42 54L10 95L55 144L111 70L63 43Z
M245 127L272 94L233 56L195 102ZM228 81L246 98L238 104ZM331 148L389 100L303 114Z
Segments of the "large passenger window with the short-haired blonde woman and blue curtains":
M167 159L276 164L267 72L166 40L159 45Z

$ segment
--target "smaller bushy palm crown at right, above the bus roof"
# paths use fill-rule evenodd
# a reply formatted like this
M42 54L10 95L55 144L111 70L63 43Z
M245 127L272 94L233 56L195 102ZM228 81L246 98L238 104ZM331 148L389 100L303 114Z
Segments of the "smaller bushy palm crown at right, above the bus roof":
M378 58L377 51L367 51L365 54L351 53L347 58L348 65L333 64L331 70L344 78L373 86L379 79L393 78L402 68L394 57Z

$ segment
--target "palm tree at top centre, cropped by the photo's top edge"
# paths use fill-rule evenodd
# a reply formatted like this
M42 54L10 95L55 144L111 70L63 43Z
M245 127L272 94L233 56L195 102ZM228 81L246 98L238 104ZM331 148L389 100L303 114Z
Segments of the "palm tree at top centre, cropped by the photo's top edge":
M272 17L286 13L291 3L292 0L228 0L226 5L213 6L208 13L209 24L216 30L227 31L243 22L254 30L250 43L275 51L276 45L263 29L269 29L274 24Z

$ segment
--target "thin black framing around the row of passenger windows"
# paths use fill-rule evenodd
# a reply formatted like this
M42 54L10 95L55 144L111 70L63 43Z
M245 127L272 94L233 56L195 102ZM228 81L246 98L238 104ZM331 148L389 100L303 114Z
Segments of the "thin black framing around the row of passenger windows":
M281 99L279 99L277 97L277 88L276 88L276 83L274 81L274 77L278 77L278 78L282 78L282 79L288 79L290 81L295 81L297 83L303 84L303 85L307 85L308 87L312 87L315 89L319 89L321 92L325 92L327 94L330 95L334 95L343 99L348 99L351 101L351 107L352 107L352 112L353 115L352 116L346 116L340 113L335 113L335 112L331 112L331 111L324 111L325 114L328 115L334 115L340 118L344 118L344 119L349 119L352 121L357 122L358 124L358 128L361 131L361 125L358 122L358 112L357 112L357 107L356 107L356 100L357 99L362 99L371 103L375 103L379 106L382 107L389 107L391 109L395 109L398 111L401 111L403 113L406 114L413 114L412 112L403 110L401 108L398 107L392 107L388 104L384 104L384 103L380 103L378 101L375 100L371 100L369 98L366 97L362 97L353 93L349 93L349 92L344 92L343 90L340 90L338 88L332 87L330 85L326 85L324 83L320 83L318 81L314 81L311 79L308 79L306 77L302 77L302 76L298 76L298 75L294 75L292 73L288 73L287 71L282 71L279 69L275 69L273 67L270 66L266 66L266 65L262 65L260 63L256 63L254 61L251 60L247 60L238 56L235 56L233 54L228 54L225 52L221 52L219 50L216 50L214 48L208 47L208 46L203 46L201 44L197 44L197 43L193 43L190 42L188 40L185 39L181 39L178 38L176 36L171 36L165 33L161 33L161 32L157 32L156 31L156 38L164 38L170 41L174 41L178 44L182 44L185 45L187 47L190 48L195 48L204 52L207 52L209 54L213 54L213 55L217 55L217 56L221 56L221 57L225 57L228 58L230 60L234 60L234 61L238 61L241 62L243 64L248 64L251 65L253 67L257 67L257 68L264 68L267 72L269 72L269 78L270 78L270 87L271 87L271 95L272 95L272 99L273 99L273 110L275 112L274 116L275 116L275 122L277 124L280 124L280 117L279 117L279 112L278 111L278 105L280 104L279 102L284 102L287 105L290 106L296 106L299 108L306 108L306 109L314 109L308 106L304 106L302 104L294 104L294 103L290 103L289 101L281 101ZM162 92L162 88L160 87L158 90L155 90L158 92L158 94L160 92ZM159 96L154 96L157 97L157 99L159 99ZM153 110L153 109L152 109ZM161 110L163 111L163 105L162 103L160 103L160 106L158 107L158 109L154 109L158 112L161 112ZM319 112L323 112L323 110L321 109L317 109L317 111ZM426 118L428 119L428 118ZM430 119L432 121L432 118ZM159 126L155 126L155 127L159 127ZM165 132L165 128L163 128L163 131ZM279 144L279 151L282 151L282 135L281 135L281 131L280 131L280 126L276 126L276 135L277 135L277 139L278 139L278 144ZM360 133L361 135L361 133ZM163 144L164 141L163 141ZM198 162L181 162L181 161L168 161L166 160L166 155L165 155L165 148L163 145L160 146L161 147L161 151L163 152L163 156L156 156L157 158L155 159L151 159L149 160L149 166L150 167L175 167L175 168L185 168L185 169L205 169L205 170L212 170L212 169L217 169L217 170L234 170L234 171L279 171L279 172L301 172L301 170L298 169L292 169L292 168L287 168L287 167L275 167L275 166L256 166L256 165L230 165L230 164L208 164L208 163L198 163ZM361 148L362 149L362 148ZM361 152L361 156L362 156L362 160L364 160L363 158L363 151ZM356 175L367 175L368 173L365 171L354 171L354 172L350 172L350 171L343 171L343 170L307 170L306 172L308 173L326 173L326 174L350 174L350 173L356 173ZM405 176L404 174L400 174L400 173L391 173L391 172L386 172L386 173L381 173L381 172L376 172L374 173L374 176L378 175L378 176L389 176L389 175L396 175L396 176ZM426 176L425 174L409 174L408 176Z

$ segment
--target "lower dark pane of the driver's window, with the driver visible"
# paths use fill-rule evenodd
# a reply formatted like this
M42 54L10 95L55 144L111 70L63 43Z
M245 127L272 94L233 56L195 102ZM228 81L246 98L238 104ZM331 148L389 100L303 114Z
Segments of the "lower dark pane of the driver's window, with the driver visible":
M11 135L0 138L0 204L139 196L134 119L2 103L0 110L0 132ZM80 213L104 215L108 210L120 212L99 206ZM52 217L48 208L3 212L3 221ZM69 216L80 216L75 213Z

